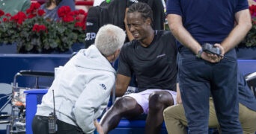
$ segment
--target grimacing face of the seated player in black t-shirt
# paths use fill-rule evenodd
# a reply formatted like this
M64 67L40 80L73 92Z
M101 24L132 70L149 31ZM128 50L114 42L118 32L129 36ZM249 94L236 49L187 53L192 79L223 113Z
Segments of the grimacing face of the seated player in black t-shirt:
M148 26L150 26L147 21L148 19L142 19L141 13L127 13L127 25L134 39L143 40L147 37Z

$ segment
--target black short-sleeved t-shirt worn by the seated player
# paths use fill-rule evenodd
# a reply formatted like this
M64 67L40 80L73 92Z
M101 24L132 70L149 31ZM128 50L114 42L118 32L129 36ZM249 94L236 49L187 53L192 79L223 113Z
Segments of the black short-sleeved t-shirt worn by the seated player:
M138 40L127 42L121 49L118 74L135 74L138 91L145 89L176 90L177 48L170 31L155 31L148 47Z

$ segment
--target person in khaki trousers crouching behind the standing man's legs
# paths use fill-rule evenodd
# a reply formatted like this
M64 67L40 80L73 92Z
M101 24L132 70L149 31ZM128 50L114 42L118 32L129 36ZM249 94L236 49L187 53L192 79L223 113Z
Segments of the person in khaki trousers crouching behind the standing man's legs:
M238 79L238 92L239 92L239 119L243 127L243 133L255 134L256 131L256 99L249 89L243 74L237 73ZM177 94L178 93L177 86ZM177 95L178 98L179 95ZM181 102L181 100L177 100ZM165 118L165 126L168 133L182 134L186 132L187 121L183 105L169 106L163 112ZM218 120L216 118L216 112L213 105L213 98L210 98L210 115L209 115L209 127L219 127Z

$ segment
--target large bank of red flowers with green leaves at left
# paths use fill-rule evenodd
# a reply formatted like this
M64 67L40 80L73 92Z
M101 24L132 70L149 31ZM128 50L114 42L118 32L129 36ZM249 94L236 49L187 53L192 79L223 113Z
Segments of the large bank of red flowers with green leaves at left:
M49 51L64 52L74 43L85 42L84 10L71 11L63 6L58 10L58 21L44 19L44 10L39 3L32 3L26 13L19 12L14 16L0 10L0 42L16 43L18 53L45 53Z

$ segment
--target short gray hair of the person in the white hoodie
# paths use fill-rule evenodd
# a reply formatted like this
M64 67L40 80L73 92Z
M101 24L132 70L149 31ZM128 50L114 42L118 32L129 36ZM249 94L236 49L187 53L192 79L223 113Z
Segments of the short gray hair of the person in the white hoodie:
M95 38L95 46L101 54L109 56L124 45L125 32L115 25L103 25Z

